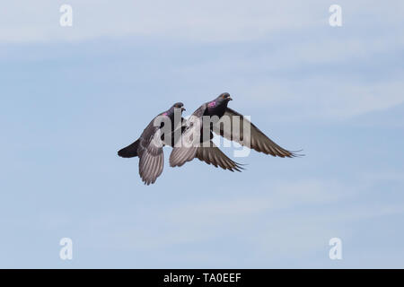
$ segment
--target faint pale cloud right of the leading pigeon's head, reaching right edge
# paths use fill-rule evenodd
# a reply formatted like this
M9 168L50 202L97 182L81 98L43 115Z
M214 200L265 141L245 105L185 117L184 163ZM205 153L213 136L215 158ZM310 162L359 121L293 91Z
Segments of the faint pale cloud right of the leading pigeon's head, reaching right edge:
M345 119L390 109L404 102L403 89L404 83L400 80L368 83L347 78L340 80L336 76L312 76L296 81L268 81L265 85L252 86L250 93L253 100L282 111L273 114L274 119L295 121L302 118Z

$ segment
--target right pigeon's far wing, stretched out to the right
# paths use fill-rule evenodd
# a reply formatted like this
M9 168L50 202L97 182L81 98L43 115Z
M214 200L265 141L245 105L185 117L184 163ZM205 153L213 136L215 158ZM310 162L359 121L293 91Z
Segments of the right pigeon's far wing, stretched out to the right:
M239 121L233 121L233 117L239 117ZM240 125L236 126L234 123L239 122ZM257 152L264 152L272 156L295 157L296 154L287 151L284 148L271 141L267 135L264 135L257 126L254 126L247 118L233 109L226 108L224 117L216 124L214 132L224 138L245 145ZM248 130L250 129L250 132Z

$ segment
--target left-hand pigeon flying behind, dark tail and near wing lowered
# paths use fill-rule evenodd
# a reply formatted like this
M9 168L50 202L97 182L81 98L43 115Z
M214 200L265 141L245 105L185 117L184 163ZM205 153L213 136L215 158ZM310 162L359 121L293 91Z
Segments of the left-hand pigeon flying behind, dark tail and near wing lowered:
M145 185L154 184L155 180L162 174L164 164L162 146L174 145L175 136L171 135L174 135L175 131L181 128L184 120L181 115L184 110L182 102L175 103L170 109L154 117L150 124L145 127L139 139L119 150L118 155L122 158L139 157L139 175ZM177 115L180 115L180 123L174 122ZM163 130L165 120L169 120L169 123L171 123L171 130L166 133L168 136ZM161 124L159 124L160 122ZM159 124L159 126L155 126L156 124Z

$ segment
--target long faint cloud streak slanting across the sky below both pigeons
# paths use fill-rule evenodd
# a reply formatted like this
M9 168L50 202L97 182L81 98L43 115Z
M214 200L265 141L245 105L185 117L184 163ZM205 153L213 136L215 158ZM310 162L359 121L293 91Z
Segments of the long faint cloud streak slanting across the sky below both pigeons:
M335 181L319 180L284 182L254 189L262 189L263 192L256 195L225 197L215 201L181 200L178 204L162 208L159 213L153 211L156 221L164 222L163 229L135 224L140 230L125 226L125 231L119 229L111 232L114 234L111 238L125 239L120 245L127 244L127 248L167 248L175 244L203 242L224 234L238 233L240 226L247 230L251 227L255 229L251 223L262 222L262 218L268 216L268 219L277 217L277 224L284 224L290 218L286 216L284 220L279 218L278 214L294 213L294 209L302 206L310 208L336 203L350 196L351 190L341 187ZM142 213L148 212L144 210ZM150 216L147 217L150 219ZM258 240L261 235L260 233L257 235Z

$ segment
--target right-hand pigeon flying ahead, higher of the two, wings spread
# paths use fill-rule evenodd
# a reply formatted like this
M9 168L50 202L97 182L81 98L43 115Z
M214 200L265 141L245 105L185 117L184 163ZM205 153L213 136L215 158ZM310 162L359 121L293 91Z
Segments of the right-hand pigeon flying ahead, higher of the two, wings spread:
M220 150L215 145L210 149L209 147L200 147L198 142L206 143L210 141L213 136L212 132L257 152L263 152L272 156L293 158L301 155L280 147L247 118L235 110L228 108L227 104L230 100L233 100L230 94L224 92L215 100L204 103L189 117L182 135L182 142L185 144L173 148L170 155L171 167L180 167L185 162L192 161L197 157L201 161L216 163L224 169L239 169L240 166L230 159L226 160L227 157L224 155L224 158L223 154L218 152ZM206 117L207 119L210 118L207 122L205 121ZM238 121L241 123L239 126L234 124L237 123L234 117L238 117ZM227 128L225 128L225 123L230 123L230 126L227 125ZM243 133L244 130L247 131L247 128L250 129L250 132ZM204 136L207 135L206 130L210 132L210 138L205 139L207 137Z

